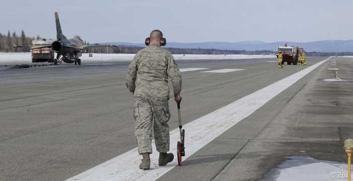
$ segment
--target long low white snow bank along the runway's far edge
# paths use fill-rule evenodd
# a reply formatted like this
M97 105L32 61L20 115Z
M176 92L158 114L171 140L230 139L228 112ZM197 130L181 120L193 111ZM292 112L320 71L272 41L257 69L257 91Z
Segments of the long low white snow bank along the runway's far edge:
M88 53L83 53L81 60L83 61L130 61L134 58L135 54L105 54L93 53L89 57ZM199 59L251 59L251 58L273 58L273 55L191 55L175 54L173 55L176 60L199 60ZM31 62L30 52L19 53L1 53L0 62Z

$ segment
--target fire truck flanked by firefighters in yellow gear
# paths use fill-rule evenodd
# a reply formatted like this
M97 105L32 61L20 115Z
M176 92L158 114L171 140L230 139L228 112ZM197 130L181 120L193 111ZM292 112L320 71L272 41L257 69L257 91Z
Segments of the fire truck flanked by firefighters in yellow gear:
M304 52L304 49L295 46L278 46L276 52L277 58L278 54L282 53L283 62L287 62L288 65L297 65L299 55Z

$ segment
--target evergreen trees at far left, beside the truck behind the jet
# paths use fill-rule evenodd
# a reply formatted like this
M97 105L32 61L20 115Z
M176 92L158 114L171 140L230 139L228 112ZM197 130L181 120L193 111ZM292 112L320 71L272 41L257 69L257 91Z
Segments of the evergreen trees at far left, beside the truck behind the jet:
M39 39L39 36L37 39ZM26 37L23 30L19 36L15 31L11 34L10 30L7 35L0 33L0 52L28 52L29 47L14 48L14 45L30 46L32 40L34 40L34 38Z

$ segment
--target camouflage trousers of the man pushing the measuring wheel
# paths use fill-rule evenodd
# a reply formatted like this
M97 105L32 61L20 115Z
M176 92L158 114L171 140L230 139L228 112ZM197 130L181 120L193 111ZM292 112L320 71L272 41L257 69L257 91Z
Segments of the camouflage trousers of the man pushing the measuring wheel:
M168 98L134 99L135 136L139 154L152 153L152 129L157 151L169 151Z

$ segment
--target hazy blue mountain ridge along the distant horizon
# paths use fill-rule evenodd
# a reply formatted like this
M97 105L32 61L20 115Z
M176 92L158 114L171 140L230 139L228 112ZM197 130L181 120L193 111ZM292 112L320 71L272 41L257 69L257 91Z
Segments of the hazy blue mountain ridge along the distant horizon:
M298 42L272 42L266 43L261 41L244 41L244 42L201 42L201 43L177 43L167 42L166 47L173 48L214 48L214 49L227 49L227 50L272 50L274 51L277 46L283 46L285 43L288 46L300 46L306 51L316 52L353 52L353 40L323 40L306 43ZM127 42L108 42L107 44L113 45L126 45L126 46L141 46L143 43L127 43Z

